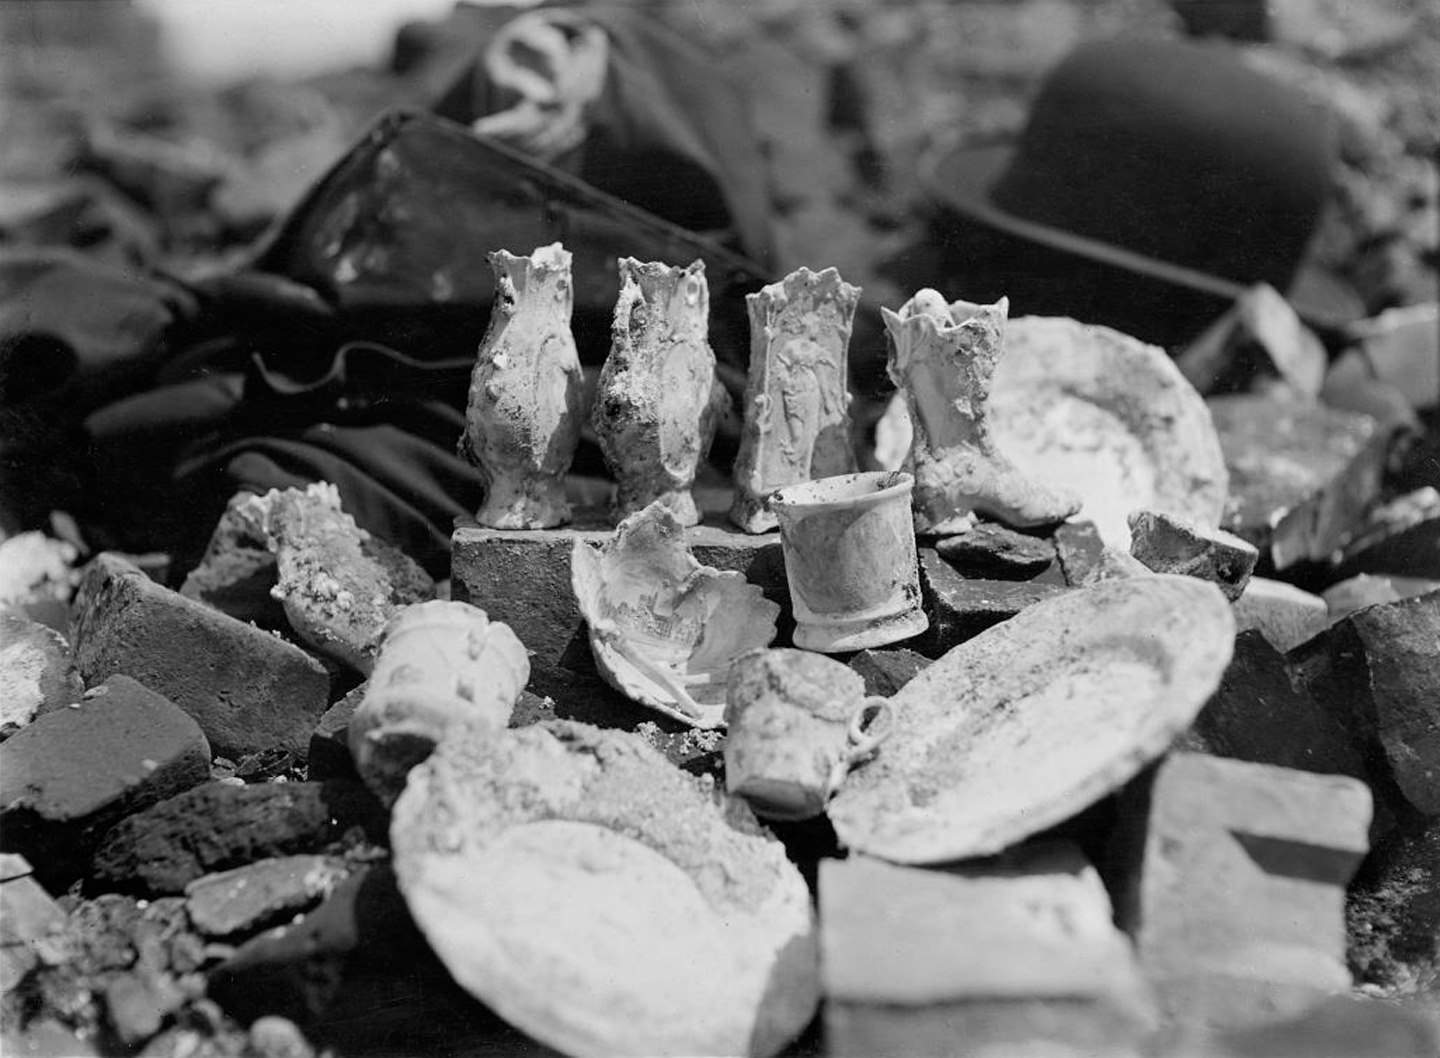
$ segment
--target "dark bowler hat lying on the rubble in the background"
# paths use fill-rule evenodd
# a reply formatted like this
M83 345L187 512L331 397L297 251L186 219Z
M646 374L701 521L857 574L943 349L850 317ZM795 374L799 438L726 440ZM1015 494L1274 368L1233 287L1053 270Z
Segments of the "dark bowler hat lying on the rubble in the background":
M1009 236L1224 301L1266 282L1331 328L1362 314L1302 268L1335 160L1325 114L1230 46L1117 39L1061 60L1018 141L935 151L923 180Z

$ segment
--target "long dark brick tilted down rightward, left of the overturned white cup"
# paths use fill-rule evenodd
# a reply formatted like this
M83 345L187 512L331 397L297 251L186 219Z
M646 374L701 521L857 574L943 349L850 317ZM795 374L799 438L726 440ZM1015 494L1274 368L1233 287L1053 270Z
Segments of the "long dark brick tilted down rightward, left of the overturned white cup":
M114 554L85 571L71 626L89 684L115 672L194 717L225 757L284 746L304 754L330 677L298 646L156 584Z

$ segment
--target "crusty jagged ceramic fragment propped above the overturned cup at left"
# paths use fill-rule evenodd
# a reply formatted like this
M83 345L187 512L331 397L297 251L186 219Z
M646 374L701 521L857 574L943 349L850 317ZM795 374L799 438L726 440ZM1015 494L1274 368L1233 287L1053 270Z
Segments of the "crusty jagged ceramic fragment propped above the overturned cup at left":
M340 507L330 482L232 501L225 523L246 527L275 556L285 619L310 646L369 674L386 622L435 594L409 556L376 540Z

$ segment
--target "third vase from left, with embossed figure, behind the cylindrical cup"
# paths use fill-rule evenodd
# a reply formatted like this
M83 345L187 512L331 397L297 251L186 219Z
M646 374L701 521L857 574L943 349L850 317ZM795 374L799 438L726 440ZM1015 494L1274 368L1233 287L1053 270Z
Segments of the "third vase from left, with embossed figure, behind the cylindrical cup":
M851 474L847 351L860 288L808 268L746 297L750 377L730 520L775 528L765 498L782 485Z

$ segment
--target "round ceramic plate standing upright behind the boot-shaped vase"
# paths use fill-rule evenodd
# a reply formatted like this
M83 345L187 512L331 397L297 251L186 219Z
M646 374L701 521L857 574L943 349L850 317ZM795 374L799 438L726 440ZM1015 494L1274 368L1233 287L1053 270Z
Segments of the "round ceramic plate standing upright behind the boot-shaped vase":
M1130 511L1220 525L1220 438L1200 393L1162 348L1109 327L1021 317L989 394L995 443L1021 471L1077 492L1079 518L1130 550Z

